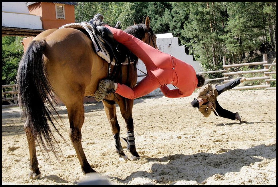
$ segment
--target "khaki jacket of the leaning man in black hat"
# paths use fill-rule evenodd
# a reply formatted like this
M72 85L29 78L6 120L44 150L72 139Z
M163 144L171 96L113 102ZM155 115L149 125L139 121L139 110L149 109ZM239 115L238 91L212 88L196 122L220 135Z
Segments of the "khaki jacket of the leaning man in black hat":
M209 93L211 96L209 98L206 97L206 93ZM197 92L197 98L207 99L208 102L212 102L213 108L215 108L215 101L217 99L217 96L218 96L218 92L215 89L215 86L212 86L211 84L204 85ZM207 104L202 104L198 110L204 115L204 117L207 118L209 115L211 115L211 111L213 109L209 108L207 103Z

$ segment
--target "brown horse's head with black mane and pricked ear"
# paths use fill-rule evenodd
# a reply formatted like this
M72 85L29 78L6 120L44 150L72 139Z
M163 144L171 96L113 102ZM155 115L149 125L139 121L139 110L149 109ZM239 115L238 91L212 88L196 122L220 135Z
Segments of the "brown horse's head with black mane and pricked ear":
M149 44L150 46L158 49L156 45L156 35L152 31L152 28L150 28L149 16L144 17L143 22L141 24L135 24L134 22L133 26L128 27L124 31L127 32L128 34L132 34L133 36L142 40L146 44Z

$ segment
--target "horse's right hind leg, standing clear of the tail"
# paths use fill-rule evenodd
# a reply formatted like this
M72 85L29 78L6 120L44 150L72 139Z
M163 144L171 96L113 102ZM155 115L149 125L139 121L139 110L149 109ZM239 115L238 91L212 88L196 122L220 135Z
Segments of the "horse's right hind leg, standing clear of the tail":
M93 170L82 147L81 128L84 123L84 105L83 102L75 103L74 106L66 106L69 116L69 137L76 151L81 169L84 174L96 172Z

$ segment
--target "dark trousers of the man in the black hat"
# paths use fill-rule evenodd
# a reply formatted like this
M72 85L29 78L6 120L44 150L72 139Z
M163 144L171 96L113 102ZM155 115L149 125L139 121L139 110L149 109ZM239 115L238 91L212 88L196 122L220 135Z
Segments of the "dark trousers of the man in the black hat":
M234 81L227 82L223 85L219 85L219 86L216 85L215 88L218 92L218 96L221 93L223 93L224 91L227 91L227 90L232 89L233 87L236 87L237 85L239 85L240 84L240 79L241 78L237 78ZM215 110L219 114L220 117L235 120L235 114L236 113L233 113L229 110L226 110L226 109L222 108L222 106L219 105L217 100L215 101ZM217 116L216 112L215 111L213 111L213 112Z

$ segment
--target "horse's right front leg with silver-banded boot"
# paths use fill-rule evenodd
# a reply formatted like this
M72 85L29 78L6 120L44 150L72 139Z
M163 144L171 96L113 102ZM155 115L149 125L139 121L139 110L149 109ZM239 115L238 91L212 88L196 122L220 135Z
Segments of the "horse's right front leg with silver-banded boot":
M134 137L134 123L132 118L132 108L133 108L133 100L126 99L122 97L122 100L118 102L122 117L126 122L126 139L127 139L127 149L132 154L130 157L131 161L140 159L136 151L135 146L135 137Z

